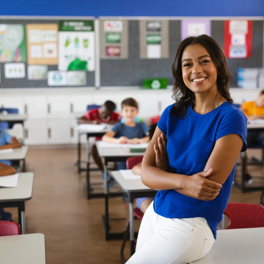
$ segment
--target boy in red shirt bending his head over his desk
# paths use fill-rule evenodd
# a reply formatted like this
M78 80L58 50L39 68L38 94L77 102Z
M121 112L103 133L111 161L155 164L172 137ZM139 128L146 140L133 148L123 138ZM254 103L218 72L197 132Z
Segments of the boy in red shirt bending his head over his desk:
M114 102L106 101L101 107L88 111L84 116L77 119L77 122L79 124L107 123L109 125L113 125L117 122L120 122L121 120L121 116L114 112L115 108L116 105ZM98 165L99 170L104 172L104 166L95 145L92 146L92 157L95 163Z

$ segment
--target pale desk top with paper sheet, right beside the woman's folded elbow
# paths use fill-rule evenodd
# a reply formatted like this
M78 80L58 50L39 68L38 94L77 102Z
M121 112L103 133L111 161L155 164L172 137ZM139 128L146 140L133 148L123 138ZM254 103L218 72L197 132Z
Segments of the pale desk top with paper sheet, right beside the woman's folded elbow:
M114 170L110 172L113 176L114 180L120 185L120 187L124 191L128 192L140 192L140 191L153 191L153 189L150 189L147 187L141 179L135 179L135 180L125 180L124 177L121 175L119 170Z

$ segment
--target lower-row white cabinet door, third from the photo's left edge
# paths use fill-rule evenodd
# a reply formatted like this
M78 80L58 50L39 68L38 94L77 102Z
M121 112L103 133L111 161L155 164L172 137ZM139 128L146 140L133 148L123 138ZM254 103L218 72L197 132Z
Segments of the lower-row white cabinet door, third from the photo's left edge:
M48 120L48 144L69 144L70 139L70 119L59 118Z

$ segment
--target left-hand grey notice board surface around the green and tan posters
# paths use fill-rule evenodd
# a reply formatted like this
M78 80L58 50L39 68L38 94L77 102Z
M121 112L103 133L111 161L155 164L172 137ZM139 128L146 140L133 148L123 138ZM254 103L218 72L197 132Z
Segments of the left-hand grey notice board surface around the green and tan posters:
M61 20L73 19L73 18L62 18ZM81 20L82 18L80 18ZM75 18L73 19L75 20ZM76 19L77 20L77 19ZM60 19L0 19L0 24L58 24ZM0 63L1 67L1 83L0 88L52 88L53 86L48 86L47 80L28 80L27 78L27 62L25 62L26 67L26 78L19 79L6 79L4 73L4 64ZM58 70L58 65L48 65L48 71ZM86 87L93 87L95 83L94 72L86 72ZM56 86L59 88L60 86Z

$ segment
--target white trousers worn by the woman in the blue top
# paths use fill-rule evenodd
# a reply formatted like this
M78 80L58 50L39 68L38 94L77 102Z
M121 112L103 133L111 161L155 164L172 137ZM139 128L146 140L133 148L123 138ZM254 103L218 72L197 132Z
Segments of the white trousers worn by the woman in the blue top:
M136 252L126 263L187 264L204 257L214 240L204 218L165 218L154 212L152 202L140 225Z

